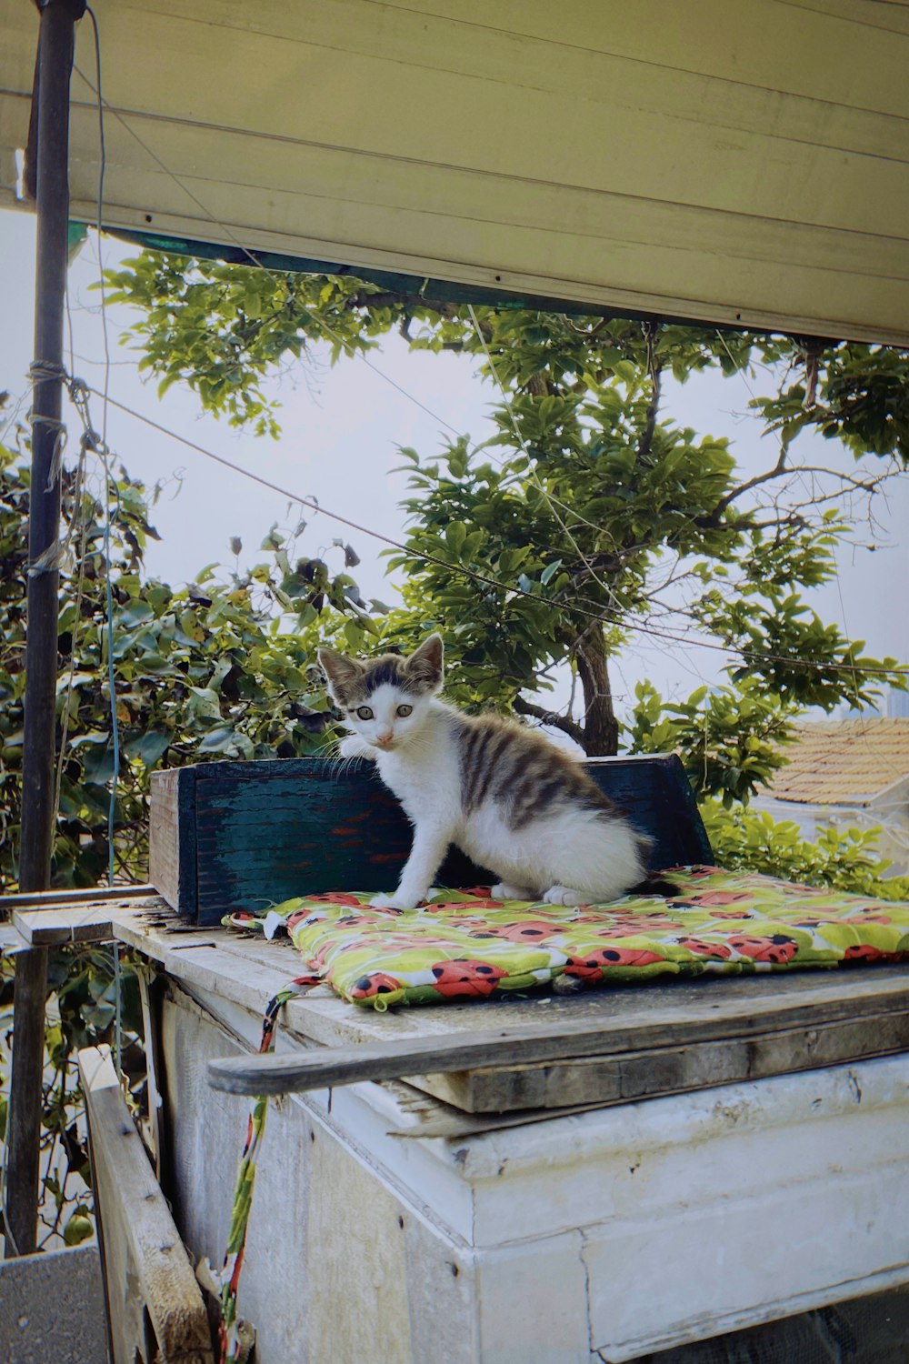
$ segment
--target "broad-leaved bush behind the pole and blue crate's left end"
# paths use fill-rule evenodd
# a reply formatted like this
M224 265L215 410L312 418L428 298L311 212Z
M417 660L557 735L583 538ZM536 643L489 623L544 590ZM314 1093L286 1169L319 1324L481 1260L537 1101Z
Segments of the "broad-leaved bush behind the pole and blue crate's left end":
M59 816L55 885L95 885L108 872L113 732L108 685L104 514L79 471L63 476L57 689ZM304 522L273 527L264 561L210 565L188 587L149 578L155 536L144 490L120 469L112 524L113 652L120 775L114 799L117 876L146 877L149 773L210 758L290 757L324 747L330 715L301 630L320 611L372 629L349 573L298 551ZM16 880L25 694L29 469L0 447L0 887ZM339 546L342 559L349 548ZM363 622L363 625L360 623Z

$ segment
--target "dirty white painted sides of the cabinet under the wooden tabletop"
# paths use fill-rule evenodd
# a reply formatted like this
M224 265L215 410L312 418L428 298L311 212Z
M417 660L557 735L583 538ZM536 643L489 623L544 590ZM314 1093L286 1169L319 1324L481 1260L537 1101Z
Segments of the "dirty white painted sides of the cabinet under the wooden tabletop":
M204 1067L236 1049L166 1004L168 1192L213 1262L245 1103ZM273 1106L240 1289L260 1364L619 1364L909 1282L905 1056L458 1139L391 1135L401 1093Z

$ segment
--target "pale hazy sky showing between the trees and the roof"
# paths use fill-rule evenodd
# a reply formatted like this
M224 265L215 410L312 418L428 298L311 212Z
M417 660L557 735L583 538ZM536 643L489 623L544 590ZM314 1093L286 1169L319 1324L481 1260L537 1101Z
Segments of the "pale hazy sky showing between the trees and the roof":
M113 267L135 255L136 248L105 237L101 252L104 265ZM30 214L0 210L0 273L5 322L0 329L0 390L10 390L14 401L23 398L25 413L26 374L33 357L34 218ZM102 389L104 329L99 293L91 288L97 278L98 247L90 233L70 271L72 364L76 375ZM474 441L489 434L488 409L496 393L481 382L474 361L452 353L409 352L399 337L391 336L380 351L372 352L373 368L363 359L342 360L330 368L327 355L316 346L308 363L270 381L266 391L281 402L282 435L278 441L256 438L204 415L187 387L174 385L158 398L155 382L143 381L138 372L138 352L120 342L128 321L128 310L108 308L112 398L297 496L315 496L323 507L392 539L405 532L398 503L406 494L406 475L394 472L399 462L397 447L413 446L429 458L454 431L467 432ZM760 423L747 412L751 391L769 391L767 378L725 381L710 374L685 386L668 381L661 413L700 434L728 436L743 477L751 477L777 456L773 438L763 436ZM93 400L91 416L99 428L98 400ZM71 432L72 462L79 423L72 408L64 417ZM3 426L0 417L0 435ZM149 487L162 486L151 513L161 542L150 542L146 565L150 574L174 585L191 581L213 562L233 566L228 546L233 536L243 540L240 563L255 563L273 524L288 527L298 520L298 510L289 510L286 496L218 468L114 408L108 411L108 445L134 477ZM800 436L793 454L801 454L805 464L854 472L853 457L837 442L819 436ZM878 461L869 462L879 468ZM327 516L307 514L307 520L300 554L326 554L341 567L341 551L331 547L333 540L335 536L350 540L363 561L354 570L363 595L394 600L394 588L379 558L380 543L331 522ZM838 551L835 581L811 593L810 600L822 619L838 623L849 637L865 640L871 653L906 662L909 475L893 480L886 498L875 498L875 522L874 532L867 521L857 522L856 543ZM338 558L333 561L331 555ZM711 651L636 637L613 667L619 708L624 709L635 682L643 678L666 696L687 697L702 681L718 681L722 662L722 655Z

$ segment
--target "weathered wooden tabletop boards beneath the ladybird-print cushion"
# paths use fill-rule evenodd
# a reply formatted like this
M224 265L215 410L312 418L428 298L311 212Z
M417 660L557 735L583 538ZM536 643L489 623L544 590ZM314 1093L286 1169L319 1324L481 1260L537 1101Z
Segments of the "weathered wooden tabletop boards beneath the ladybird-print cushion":
M12 922L33 945L119 938L185 988L256 1018L301 970L286 940L188 928L150 888L12 906ZM211 1083L283 1093L406 1079L462 1112L517 1116L909 1050L909 966L706 975L386 1013L323 985L286 1007L283 1027L309 1050L217 1063Z

